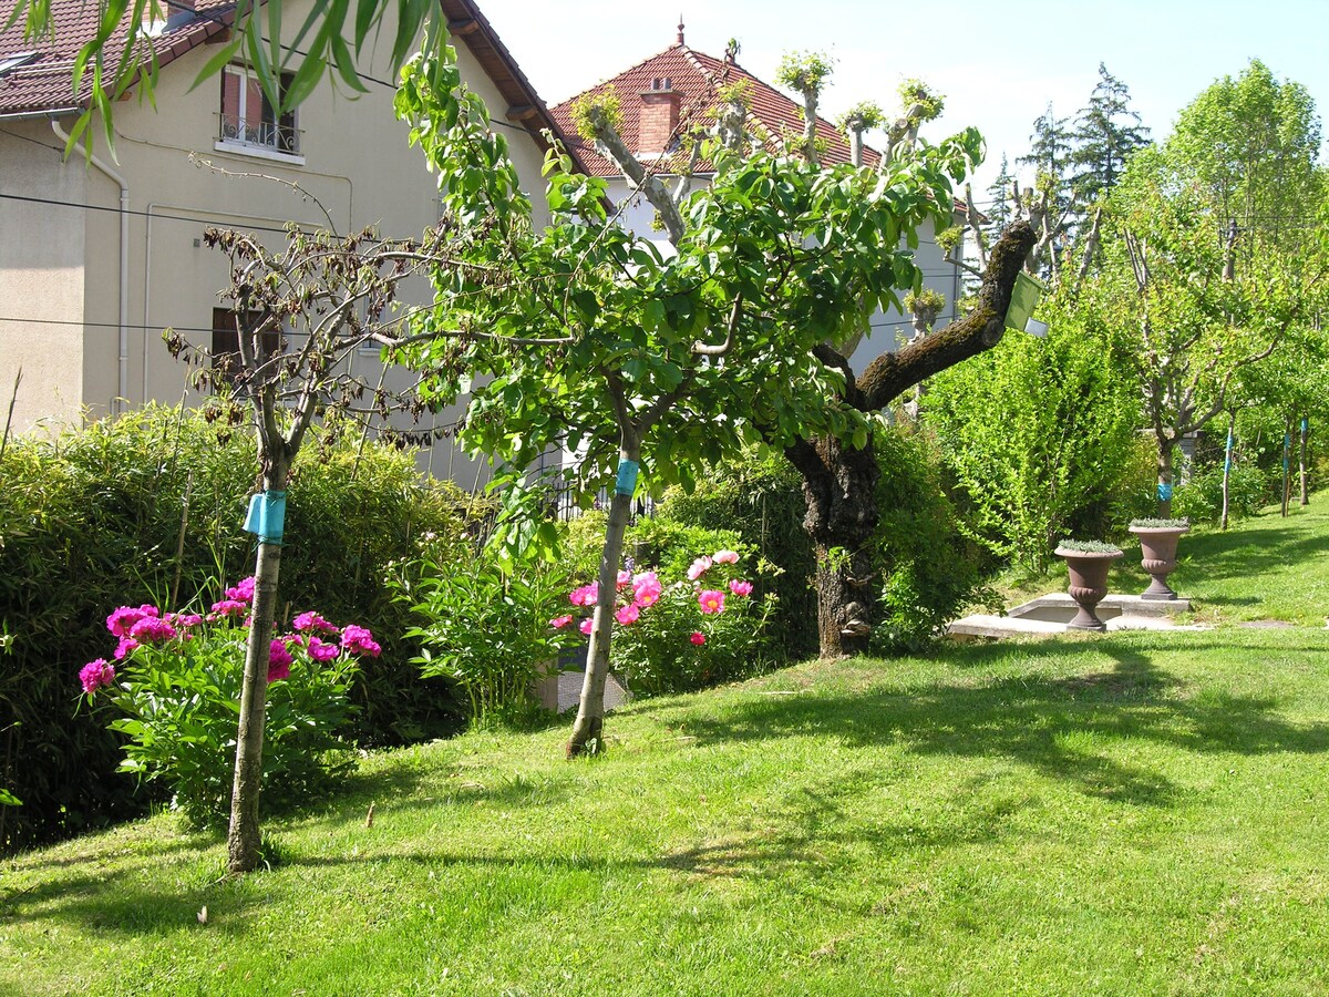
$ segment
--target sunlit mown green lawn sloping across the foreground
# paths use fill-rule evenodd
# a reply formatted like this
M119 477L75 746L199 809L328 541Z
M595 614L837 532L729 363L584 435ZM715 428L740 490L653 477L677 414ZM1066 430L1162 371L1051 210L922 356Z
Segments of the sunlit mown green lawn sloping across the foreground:
M0 992L1322 993L1313 622L812 662L574 763L562 727L368 755L241 880L171 815L0 863Z

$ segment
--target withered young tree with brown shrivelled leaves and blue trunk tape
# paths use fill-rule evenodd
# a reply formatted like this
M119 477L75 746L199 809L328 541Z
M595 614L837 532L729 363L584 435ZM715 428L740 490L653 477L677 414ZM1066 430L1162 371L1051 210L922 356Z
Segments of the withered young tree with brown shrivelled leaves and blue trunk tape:
M416 241L381 241L372 233L342 238L292 225L286 245L274 250L255 235L210 229L207 245L231 263L222 300L231 306L238 348L214 356L166 330L173 354L199 362L199 387L221 395L231 421L254 428L262 476L245 518L245 529L258 538L258 554L227 836L233 872L255 868L260 857L263 719L291 467L307 433L328 412L385 420L415 405L409 387L389 391L377 374L372 380L354 375L346 360L361 347L393 346L409 335L396 310L396 288L427 267L447 266L456 238L448 222ZM427 441L427 433L401 435Z

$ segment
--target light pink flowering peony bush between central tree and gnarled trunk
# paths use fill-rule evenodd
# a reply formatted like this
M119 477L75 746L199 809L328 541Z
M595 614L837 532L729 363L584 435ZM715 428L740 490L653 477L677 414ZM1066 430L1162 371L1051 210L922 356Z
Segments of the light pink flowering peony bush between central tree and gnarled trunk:
M642 695L696 689L742 674L762 658L762 630L773 597L754 598L743 556L720 549L700 554L676 581L661 570L619 572L614 593L610 667ZM567 601L582 610L578 629L590 635L599 586L574 588ZM556 629L573 615L549 621Z

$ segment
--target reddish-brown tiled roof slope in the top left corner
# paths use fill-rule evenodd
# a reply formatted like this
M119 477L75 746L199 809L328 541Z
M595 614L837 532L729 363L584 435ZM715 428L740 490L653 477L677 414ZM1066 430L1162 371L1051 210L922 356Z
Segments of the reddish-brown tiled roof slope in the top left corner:
M0 24L9 20L15 0L0 0ZM70 108L88 106L92 94L92 72L84 73L78 93L70 88L74 56L97 31L98 4L88 0L52 0L54 37L23 37L23 21L0 35L0 61L20 52L36 52L37 58L0 76L0 117L40 114ZM234 0L198 0L194 17L170 8L169 27L153 39L159 66L174 61L195 45L229 31L235 16ZM179 21L177 24L177 20ZM125 28L120 28L106 43L110 58L118 55L125 41Z

